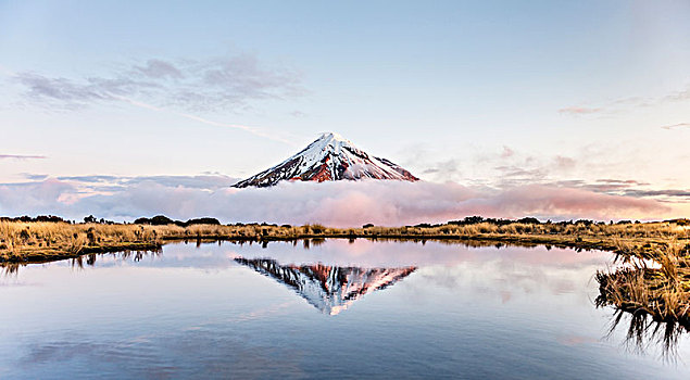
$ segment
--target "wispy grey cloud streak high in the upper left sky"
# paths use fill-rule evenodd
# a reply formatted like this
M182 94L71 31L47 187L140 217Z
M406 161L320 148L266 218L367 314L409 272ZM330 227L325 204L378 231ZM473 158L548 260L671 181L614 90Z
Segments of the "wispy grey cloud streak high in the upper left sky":
M141 103L154 107L238 111L254 100L304 92L301 75L294 69L264 67L250 54L179 62L151 59L122 66L106 76L64 78L21 72L13 78L27 99L63 109L146 99Z

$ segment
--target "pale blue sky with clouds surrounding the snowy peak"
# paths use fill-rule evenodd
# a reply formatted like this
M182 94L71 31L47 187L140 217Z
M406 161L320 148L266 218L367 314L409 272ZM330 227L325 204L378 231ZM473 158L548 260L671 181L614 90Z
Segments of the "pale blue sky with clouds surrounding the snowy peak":
M0 0L0 215L687 217L688 20L688 1ZM324 131L424 183L228 190Z

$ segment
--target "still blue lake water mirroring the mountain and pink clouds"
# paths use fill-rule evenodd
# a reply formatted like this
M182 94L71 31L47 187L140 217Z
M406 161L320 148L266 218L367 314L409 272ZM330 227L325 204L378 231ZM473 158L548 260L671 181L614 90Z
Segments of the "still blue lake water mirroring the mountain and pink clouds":
M92 257L0 276L0 378L690 377L687 334L673 355L609 334L609 253L359 239Z

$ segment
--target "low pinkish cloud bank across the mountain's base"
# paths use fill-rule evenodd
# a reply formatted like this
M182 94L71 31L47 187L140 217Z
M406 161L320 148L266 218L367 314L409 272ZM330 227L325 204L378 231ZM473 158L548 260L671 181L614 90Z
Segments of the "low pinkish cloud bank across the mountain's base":
M223 223L321 223L398 226L440 223L469 215L570 219L644 219L667 216L653 200L610 195L582 189L523 186L507 190L474 189L457 183L399 181L284 182L273 188L218 187L214 176L138 178L99 190L77 180L0 185L0 215L53 214L80 220L85 215L113 220L164 214L188 219L212 216ZM227 178L227 177L224 177Z

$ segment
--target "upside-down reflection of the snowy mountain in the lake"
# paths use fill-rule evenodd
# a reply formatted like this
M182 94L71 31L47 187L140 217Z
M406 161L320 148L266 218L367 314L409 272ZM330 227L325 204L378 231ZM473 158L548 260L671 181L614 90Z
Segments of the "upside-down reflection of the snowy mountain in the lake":
M292 288L324 314L336 315L376 290L410 276L417 267L360 268L323 264L280 265L275 259L236 257L235 262Z

